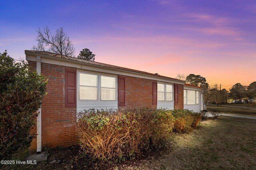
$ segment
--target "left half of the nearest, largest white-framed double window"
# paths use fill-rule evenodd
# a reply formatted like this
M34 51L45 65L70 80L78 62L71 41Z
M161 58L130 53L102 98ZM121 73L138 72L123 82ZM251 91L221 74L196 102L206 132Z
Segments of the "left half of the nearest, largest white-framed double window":
M98 75L79 73L79 100L98 100Z

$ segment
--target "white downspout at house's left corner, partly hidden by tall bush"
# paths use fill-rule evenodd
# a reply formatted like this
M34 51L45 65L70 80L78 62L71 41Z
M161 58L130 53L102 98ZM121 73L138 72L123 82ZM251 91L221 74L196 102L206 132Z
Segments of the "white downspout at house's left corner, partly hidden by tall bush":
M36 72L41 74L41 57L36 56ZM36 153L41 153L42 151L42 115L41 115L41 108L38 109L38 117L36 123Z

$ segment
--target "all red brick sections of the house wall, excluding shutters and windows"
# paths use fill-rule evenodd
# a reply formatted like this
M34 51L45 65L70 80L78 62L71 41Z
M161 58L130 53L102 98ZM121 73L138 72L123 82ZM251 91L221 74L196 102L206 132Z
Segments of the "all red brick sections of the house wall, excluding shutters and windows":
M28 64L36 68L36 62L28 61ZM42 100L42 147L69 147L77 145L79 141L76 107L65 107L65 69L76 70L76 68L41 63L41 72L48 77L46 90L48 94ZM126 106L118 108L157 107L152 105L153 80L122 77L126 78ZM183 85L178 86L178 104L174 104L174 108L183 109ZM36 147L36 140L32 143L32 147Z

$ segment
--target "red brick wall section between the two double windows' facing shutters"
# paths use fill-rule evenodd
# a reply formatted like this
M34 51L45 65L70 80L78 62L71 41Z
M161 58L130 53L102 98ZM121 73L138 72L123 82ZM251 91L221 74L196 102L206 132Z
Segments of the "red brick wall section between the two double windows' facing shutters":
M152 105L153 80L130 77L130 76L121 76L121 77L125 77L126 106L118 106L118 108L135 108L135 107L156 108L156 105Z

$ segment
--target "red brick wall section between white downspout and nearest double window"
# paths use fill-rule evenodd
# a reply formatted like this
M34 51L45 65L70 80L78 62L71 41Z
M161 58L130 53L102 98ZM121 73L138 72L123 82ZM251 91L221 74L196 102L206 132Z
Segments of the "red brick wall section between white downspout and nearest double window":
M36 67L36 62L28 63L33 68ZM76 70L41 63L41 73L48 77L48 94L42 100L42 147L69 147L78 144L76 107L65 107L65 69Z

